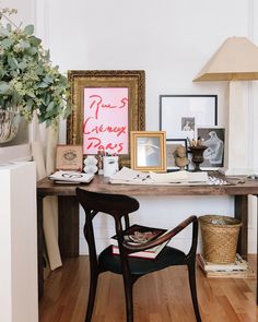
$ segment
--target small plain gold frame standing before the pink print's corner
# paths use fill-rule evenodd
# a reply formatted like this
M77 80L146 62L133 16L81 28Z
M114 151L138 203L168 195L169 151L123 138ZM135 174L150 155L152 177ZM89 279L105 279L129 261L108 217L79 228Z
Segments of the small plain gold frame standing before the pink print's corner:
M141 171L166 172L166 132L165 131L131 131L131 168ZM138 139L159 139L161 164L156 166L140 166L138 164Z

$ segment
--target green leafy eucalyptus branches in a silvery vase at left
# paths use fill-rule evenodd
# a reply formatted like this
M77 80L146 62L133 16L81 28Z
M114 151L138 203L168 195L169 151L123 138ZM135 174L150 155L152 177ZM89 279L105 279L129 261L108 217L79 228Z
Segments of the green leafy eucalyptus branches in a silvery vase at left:
M37 114L39 122L49 126L70 110L68 79L51 64L49 51L34 35L34 26L17 26L11 20L15 13L0 9L0 142L7 139L7 132L9 139L15 135L16 130L11 128L20 116L31 121Z

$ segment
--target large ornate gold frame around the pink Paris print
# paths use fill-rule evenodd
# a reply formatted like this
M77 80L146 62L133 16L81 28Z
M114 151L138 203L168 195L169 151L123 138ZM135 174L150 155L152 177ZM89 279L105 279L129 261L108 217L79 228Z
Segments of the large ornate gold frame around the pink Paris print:
M85 87L128 87L129 129L145 129L145 73L144 71L69 71L71 84L71 115L67 122L67 144L82 144L83 92ZM128 140L130 140L128 135ZM130 146L130 141L128 142ZM130 154L120 155L121 165L130 165Z

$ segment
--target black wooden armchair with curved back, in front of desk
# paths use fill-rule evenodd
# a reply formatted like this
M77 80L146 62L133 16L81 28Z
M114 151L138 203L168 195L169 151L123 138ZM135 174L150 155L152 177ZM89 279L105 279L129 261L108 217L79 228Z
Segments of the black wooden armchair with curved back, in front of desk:
M166 235L163 235L153 241L149 241L143 246L131 246L124 240L122 231L129 227L128 215L139 208L139 202L136 199L122 194L89 192L81 188L77 188L77 196L85 211L84 236L87 241L90 252L91 277L85 322L90 322L92 318L97 278L101 273L109 271L122 275L126 295L127 322L133 322L133 283L139 277L148 273L163 270L172 265L187 265L196 319L198 322L201 321L196 293L196 249L198 239L197 217L190 216L174 229L167 231ZM98 212L106 213L114 217L120 255L114 255L112 253L112 247L109 246L97 257L93 230L93 218ZM122 220L125 220L125 228L122 228ZM178 249L166 246L155 260L132 257L128 258L129 253L142 251L169 240L189 224L192 224L192 241L188 254L185 254Z

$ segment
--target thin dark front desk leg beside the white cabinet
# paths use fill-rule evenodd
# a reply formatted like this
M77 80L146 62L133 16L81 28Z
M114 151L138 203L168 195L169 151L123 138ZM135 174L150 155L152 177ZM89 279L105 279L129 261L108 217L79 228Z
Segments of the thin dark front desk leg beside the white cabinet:
M43 254L43 196L37 196L37 278L38 278L38 299L44 293L44 254Z

